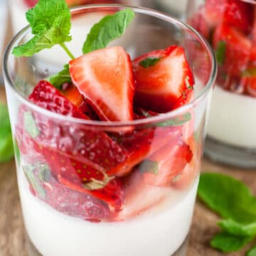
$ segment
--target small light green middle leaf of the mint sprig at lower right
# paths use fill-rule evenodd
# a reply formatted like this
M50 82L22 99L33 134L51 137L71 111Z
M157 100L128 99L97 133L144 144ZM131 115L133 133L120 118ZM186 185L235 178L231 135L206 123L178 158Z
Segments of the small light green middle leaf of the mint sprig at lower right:
M225 233L230 235L238 236L255 236L256 235L256 223L242 224L235 220L227 219L220 220L218 222L220 228L222 228Z

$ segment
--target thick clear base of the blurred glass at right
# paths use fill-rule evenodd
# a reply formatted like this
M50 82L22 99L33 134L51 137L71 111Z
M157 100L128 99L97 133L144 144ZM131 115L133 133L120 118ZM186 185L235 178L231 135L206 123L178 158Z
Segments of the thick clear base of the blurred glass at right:
M245 169L256 168L256 149L230 146L207 137L204 154L210 160L221 164Z

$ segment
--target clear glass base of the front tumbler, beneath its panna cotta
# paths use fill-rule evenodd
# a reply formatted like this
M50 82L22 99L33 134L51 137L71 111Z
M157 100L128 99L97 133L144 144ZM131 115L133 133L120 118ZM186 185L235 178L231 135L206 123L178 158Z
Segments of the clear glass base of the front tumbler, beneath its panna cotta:
M26 252L27 252L28 256L43 256L43 255L41 255L40 252L38 252L38 250L36 250L36 247L31 242L27 233L26 233L25 244L26 244ZM188 251L188 238L186 238L186 240L183 242L181 247L179 247L178 250L173 255L170 255L170 256L186 256L187 251ZM104 256L104 255L99 255L99 256ZM142 256L142 255L134 255L134 256Z

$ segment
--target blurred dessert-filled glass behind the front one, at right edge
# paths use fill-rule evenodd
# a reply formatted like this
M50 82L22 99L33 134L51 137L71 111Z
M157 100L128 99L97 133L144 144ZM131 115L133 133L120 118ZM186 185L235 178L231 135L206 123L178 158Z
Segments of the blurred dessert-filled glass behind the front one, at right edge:
M191 0L187 21L218 58L205 153L210 159L256 167L256 1Z

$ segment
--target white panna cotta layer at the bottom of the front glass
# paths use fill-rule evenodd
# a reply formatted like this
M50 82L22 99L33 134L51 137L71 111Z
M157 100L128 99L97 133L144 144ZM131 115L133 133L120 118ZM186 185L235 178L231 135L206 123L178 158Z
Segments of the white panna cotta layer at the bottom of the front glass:
M18 184L31 241L46 256L169 256L188 235L198 178L190 189L170 188L168 201L116 223L90 223L51 208L31 194L21 170Z

